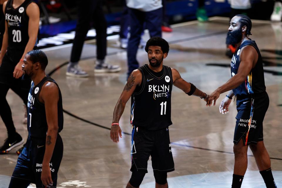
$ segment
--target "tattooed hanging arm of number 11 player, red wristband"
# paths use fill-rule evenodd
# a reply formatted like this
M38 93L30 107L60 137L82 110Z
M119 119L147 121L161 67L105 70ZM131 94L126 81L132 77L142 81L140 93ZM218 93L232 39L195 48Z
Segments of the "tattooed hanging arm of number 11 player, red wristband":
M127 83L120 95L120 98L117 100L117 104L115 105L114 115L113 115L113 123L118 123L120 117L123 113L125 108L125 104L131 97L132 93L134 92L137 85L140 85L142 81L142 74L140 70L136 69L133 70L132 73L129 75ZM112 125L110 137L113 142L119 142L119 136L122 138L121 129L119 125Z

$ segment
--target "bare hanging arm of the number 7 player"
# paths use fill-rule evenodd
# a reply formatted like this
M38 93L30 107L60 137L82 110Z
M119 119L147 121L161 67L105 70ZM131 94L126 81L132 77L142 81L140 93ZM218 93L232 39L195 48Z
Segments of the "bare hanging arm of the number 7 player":
M46 82L40 92L39 98L42 99L45 105L46 120L48 125L46 135L45 153L42 162L41 181L43 185L50 186L53 184L51 179L51 170L49 163L51 161L56 139L58 135L58 86L53 82Z

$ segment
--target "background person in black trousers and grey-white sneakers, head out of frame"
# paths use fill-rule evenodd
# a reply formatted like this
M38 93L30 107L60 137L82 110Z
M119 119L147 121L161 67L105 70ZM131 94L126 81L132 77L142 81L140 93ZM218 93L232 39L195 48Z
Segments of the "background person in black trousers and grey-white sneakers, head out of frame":
M93 24L97 33L97 60L94 72L107 73L120 71L121 68L119 66L110 65L105 62L107 53L107 21L102 7L103 0L78 0L77 6L78 18L75 28L75 38L73 40L73 48L66 75L71 77L88 77L88 73L78 65L78 61L80 60L84 40L90 29L91 21L94 22Z

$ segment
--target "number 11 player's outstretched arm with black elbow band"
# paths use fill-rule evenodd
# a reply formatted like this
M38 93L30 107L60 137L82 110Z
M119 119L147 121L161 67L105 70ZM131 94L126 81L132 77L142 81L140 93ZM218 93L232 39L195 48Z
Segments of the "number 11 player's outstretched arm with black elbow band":
M172 78L173 78L174 86L181 89L188 95L195 95L201 98L207 97L206 93L202 92L201 90L197 88L194 88L194 89L192 88L193 90L191 92L191 86L192 86L191 83L188 83L185 80L183 80L183 78L181 78L179 72L175 68L172 68L171 71L172 71Z

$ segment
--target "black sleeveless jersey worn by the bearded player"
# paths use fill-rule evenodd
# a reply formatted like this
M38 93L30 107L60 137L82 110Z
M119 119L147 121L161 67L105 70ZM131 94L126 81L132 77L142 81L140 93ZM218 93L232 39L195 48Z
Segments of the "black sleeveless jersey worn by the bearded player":
M237 96L245 96L252 94L260 94L266 91L264 83L264 73L261 53L255 41L247 40L244 41L239 48L236 49L232 60L231 60L231 77L236 75L240 65L240 51L244 46L251 45L258 52L259 58L256 66L251 69L249 75L247 76L245 82L239 85L237 88L233 89L234 94Z

